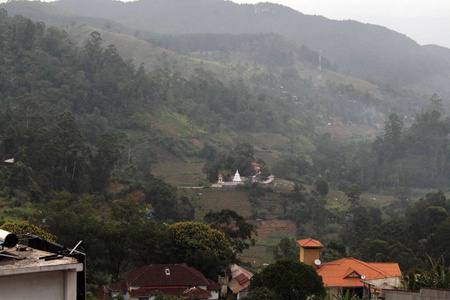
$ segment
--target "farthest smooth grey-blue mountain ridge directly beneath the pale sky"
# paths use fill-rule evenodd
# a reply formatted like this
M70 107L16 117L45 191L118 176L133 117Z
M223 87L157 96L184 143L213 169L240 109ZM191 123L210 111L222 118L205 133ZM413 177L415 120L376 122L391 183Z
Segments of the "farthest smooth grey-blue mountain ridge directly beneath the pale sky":
M278 33L299 45L321 51L341 73L413 88L425 94L437 92L444 101L446 96L450 98L450 87L445 83L450 78L449 60L407 36L381 26L304 15L271 3L249 5L223 0L140 0L127 3L60 0L38 3L9 2L4 6L8 11L18 12L13 7L45 5L43 14L58 14L61 18L78 16L76 20L80 16L94 18L102 23L100 28L112 26L113 23L106 21L110 19L125 26L122 31L115 31L127 33ZM113 27L115 29L119 25L114 23Z

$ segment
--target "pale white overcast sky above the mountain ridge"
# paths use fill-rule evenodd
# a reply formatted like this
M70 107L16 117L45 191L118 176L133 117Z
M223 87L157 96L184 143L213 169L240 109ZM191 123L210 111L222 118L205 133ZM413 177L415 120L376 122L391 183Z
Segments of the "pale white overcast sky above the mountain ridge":
M134 0L122 0L134 1ZM232 0L258 3L266 0ZM6 0L0 0L6 2ZM450 0L271 0L308 15L386 26L421 45L450 48Z

